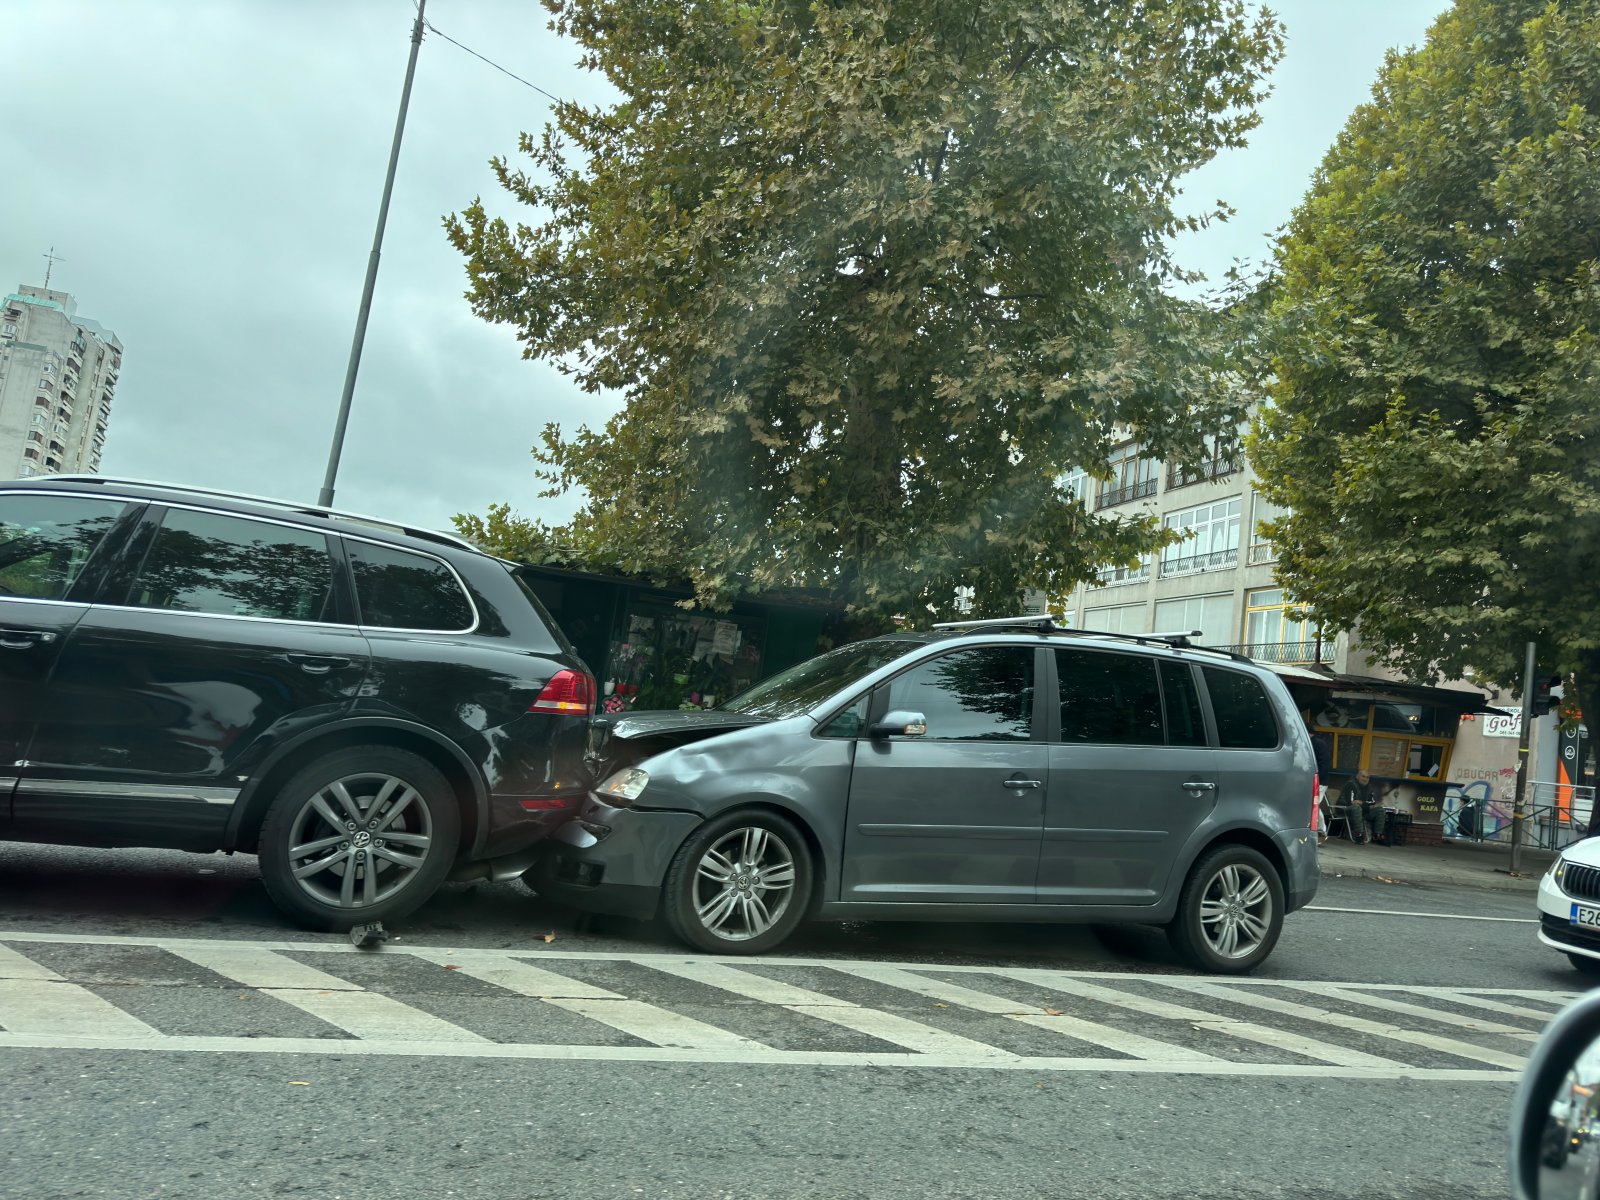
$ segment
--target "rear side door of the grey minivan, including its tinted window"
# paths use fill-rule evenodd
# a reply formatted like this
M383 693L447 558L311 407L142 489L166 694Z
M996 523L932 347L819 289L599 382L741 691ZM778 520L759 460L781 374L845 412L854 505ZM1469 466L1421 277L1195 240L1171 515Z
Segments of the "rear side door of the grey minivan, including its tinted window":
M1194 669L1053 651L1061 712L1038 864L1042 904L1155 904L1216 805Z

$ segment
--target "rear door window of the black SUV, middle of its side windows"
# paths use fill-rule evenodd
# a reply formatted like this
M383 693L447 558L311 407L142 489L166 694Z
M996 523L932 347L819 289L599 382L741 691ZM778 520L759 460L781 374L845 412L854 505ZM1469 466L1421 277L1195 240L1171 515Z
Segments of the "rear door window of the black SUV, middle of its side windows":
M326 621L328 539L314 530L170 509L128 603L182 613Z

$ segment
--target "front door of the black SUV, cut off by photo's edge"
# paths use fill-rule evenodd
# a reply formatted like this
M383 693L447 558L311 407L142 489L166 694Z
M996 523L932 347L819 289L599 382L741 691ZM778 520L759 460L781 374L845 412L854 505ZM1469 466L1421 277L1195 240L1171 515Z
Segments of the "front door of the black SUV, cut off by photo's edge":
M56 659L88 611L85 568L126 509L98 496L0 494L0 829Z

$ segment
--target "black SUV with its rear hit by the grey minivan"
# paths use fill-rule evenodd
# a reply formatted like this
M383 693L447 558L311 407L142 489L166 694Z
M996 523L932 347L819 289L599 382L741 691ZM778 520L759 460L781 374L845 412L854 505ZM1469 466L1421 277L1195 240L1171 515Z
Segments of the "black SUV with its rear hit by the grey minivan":
M512 563L314 506L0 483L0 838L242 850L314 928L507 878L594 678Z

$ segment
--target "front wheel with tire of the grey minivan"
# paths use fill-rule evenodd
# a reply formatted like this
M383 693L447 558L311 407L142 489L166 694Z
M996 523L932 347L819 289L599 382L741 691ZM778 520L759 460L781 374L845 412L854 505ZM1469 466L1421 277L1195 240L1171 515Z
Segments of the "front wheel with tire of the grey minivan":
M726 813L690 834L667 867L662 912L690 946L763 954L805 920L811 851L776 813Z

